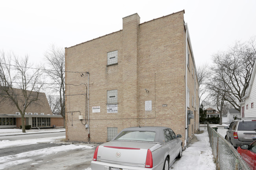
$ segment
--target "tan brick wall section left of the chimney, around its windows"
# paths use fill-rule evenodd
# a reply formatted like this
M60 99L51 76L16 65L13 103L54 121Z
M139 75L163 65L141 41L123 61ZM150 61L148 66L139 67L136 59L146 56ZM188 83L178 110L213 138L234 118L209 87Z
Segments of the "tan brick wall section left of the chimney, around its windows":
M118 64L107 66L107 53L118 50ZM68 48L65 51L66 70L84 73L66 73L66 138L72 141L106 141L107 127L118 127L122 115L122 31ZM90 131L85 128L88 121L80 121L79 115L87 119L89 72ZM81 84L80 86L74 85ZM118 90L118 113L107 113L107 91ZM85 94L74 95L73 94ZM100 106L100 113L92 113L93 106ZM88 134L90 139L88 138ZM100 134L100 135L98 135Z

